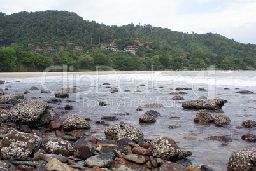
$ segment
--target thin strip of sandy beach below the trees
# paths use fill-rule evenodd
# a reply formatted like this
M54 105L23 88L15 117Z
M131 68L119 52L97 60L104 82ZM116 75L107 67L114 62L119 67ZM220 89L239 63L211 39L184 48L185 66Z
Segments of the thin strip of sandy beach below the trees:
M230 72L222 70L202 70L207 72ZM63 76L68 74L150 74L150 73L178 73L178 72L201 72L201 71L85 71L85 72L0 72L0 79L3 78L29 78L39 76ZM253 70L231 71L231 72L253 72Z

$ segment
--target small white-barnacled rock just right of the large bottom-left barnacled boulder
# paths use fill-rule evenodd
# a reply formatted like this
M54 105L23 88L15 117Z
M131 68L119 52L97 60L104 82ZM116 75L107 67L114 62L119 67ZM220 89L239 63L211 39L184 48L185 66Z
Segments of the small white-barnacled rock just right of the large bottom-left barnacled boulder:
M52 152L55 149L66 149L67 151L72 151L72 145L61 138L56 138L53 140L49 140L46 144L44 144L47 151Z

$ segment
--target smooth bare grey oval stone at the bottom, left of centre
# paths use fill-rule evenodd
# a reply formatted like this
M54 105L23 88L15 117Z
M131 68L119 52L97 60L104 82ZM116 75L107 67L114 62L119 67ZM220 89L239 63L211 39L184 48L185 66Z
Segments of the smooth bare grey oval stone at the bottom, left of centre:
M110 153L97 154L85 160L87 167L108 167L113 163L113 156Z

